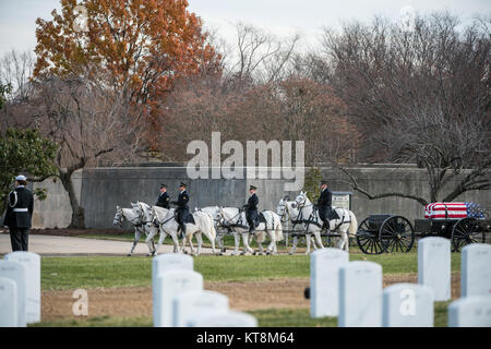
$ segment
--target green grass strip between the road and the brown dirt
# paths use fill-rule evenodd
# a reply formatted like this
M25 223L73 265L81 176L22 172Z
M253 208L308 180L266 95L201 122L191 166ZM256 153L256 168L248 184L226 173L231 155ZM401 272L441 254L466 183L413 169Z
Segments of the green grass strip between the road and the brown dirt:
M417 253L351 254L350 261L380 263L384 274L418 272ZM207 281L308 278L308 255L246 255L194 257L194 269ZM452 270L459 272L460 254L452 254ZM151 286L152 258L144 256L43 257L43 289Z

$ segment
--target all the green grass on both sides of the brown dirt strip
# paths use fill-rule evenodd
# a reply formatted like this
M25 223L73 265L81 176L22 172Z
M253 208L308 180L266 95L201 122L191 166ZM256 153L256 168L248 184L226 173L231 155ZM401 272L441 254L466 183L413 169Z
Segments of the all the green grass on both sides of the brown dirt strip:
M350 254L350 261L380 263L384 275L417 274L417 253L364 255ZM249 281L285 278L308 278L310 256L211 256L194 257L194 269L206 281ZM452 270L460 268L460 254L452 254ZM43 290L71 290L76 288L151 287L152 258L143 256L77 256L43 257ZM435 326L446 326L448 302L435 303ZM262 309L249 311L260 326L336 326L337 320L311 318L308 309ZM85 320L45 321L34 326L152 326L145 316Z

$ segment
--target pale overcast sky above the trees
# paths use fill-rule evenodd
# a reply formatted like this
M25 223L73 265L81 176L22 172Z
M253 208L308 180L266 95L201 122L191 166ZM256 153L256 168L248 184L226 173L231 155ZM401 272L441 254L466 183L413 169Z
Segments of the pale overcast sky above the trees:
M464 21L474 15L490 15L491 0L188 0L190 11L233 39L232 24L251 23L276 35L301 34L314 43L323 26L339 26L354 19L369 21L375 14L392 20L400 10L411 7L418 13L447 10ZM34 49L37 17L51 20L50 12L60 9L59 0L0 0L0 56L11 49Z

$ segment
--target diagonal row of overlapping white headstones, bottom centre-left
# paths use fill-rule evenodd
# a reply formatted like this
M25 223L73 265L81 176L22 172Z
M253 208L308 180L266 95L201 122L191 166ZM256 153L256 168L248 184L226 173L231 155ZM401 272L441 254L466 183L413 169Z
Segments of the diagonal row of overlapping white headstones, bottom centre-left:
M168 253L152 263L155 327L256 327L254 316L229 310L228 297L203 289L189 255Z

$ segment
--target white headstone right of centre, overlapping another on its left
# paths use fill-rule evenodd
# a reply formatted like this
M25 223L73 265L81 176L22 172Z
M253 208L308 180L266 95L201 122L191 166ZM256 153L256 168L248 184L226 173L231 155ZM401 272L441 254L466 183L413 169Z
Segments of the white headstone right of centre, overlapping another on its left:
M339 269L339 327L382 325L382 266L349 262Z

